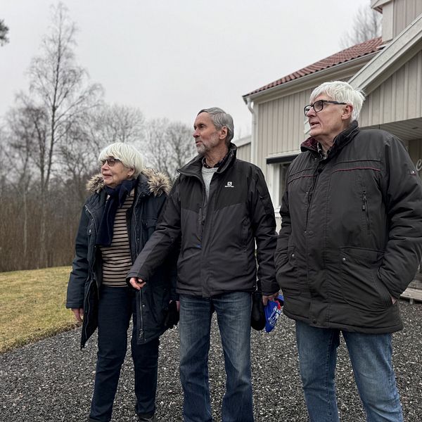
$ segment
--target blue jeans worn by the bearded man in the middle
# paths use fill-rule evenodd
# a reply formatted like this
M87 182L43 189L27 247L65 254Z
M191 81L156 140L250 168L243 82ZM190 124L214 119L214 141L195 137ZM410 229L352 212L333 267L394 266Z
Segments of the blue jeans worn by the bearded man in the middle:
M185 422L212 421L208 352L212 313L222 337L226 392L223 422L252 422L250 381L250 293L224 293L213 298L180 295L180 378Z

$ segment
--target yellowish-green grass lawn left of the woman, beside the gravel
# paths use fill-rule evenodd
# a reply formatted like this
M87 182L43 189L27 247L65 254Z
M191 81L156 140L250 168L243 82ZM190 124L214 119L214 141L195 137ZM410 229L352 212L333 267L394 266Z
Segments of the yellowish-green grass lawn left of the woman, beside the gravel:
M65 309L70 267L0 273L0 353L77 326Z

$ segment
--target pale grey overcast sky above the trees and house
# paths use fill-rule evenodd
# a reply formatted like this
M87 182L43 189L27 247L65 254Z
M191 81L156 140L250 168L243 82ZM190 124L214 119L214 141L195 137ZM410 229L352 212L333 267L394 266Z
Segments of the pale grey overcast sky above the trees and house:
M65 0L77 62L105 100L147 118L193 124L224 108L235 138L250 134L242 95L340 51L369 0ZM51 20L52 0L1 0L10 42L0 47L0 116L27 90L25 72Z

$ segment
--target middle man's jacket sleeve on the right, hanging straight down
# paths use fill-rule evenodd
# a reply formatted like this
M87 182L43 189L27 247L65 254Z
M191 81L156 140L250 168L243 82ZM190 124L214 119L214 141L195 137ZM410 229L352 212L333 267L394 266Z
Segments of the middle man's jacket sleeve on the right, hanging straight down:
M264 174L257 168L252 181L250 214L252 230L257 243L258 279L262 294L271 295L279 291L274 268L274 250L276 248L276 219Z

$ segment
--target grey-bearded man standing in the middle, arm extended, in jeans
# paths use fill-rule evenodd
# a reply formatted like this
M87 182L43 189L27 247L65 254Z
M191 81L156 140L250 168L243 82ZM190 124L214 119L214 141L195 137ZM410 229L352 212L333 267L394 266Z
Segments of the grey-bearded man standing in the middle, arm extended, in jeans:
M274 208L261 170L236 159L231 116L220 108L200 110L193 127L199 155L179 170L160 222L128 278L134 288L142 288L180 242L177 293L184 421L212 421L207 357L215 311L227 375L222 421L250 422L251 293L257 277L264 303L279 290Z

